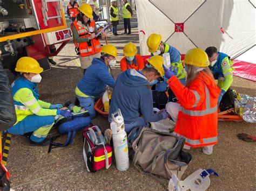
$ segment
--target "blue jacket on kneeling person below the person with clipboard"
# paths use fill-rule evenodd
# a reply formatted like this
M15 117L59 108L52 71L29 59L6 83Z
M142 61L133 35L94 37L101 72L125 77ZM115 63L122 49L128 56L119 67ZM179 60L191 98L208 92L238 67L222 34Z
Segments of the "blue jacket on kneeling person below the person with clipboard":
M113 88L115 83L110 74L110 67L105 65L103 59L93 58L91 66L86 69L77 87L87 96L98 96L107 85Z

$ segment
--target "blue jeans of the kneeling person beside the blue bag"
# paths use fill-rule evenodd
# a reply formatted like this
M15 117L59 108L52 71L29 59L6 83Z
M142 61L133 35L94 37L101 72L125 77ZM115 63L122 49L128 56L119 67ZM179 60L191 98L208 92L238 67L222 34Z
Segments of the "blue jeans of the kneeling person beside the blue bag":
M77 96L79 102L80 102L80 107L86 109L89 111L91 119L96 117L96 111L94 110L94 104L99 100L100 97L102 97L104 94L103 93L99 94L96 97L81 97Z

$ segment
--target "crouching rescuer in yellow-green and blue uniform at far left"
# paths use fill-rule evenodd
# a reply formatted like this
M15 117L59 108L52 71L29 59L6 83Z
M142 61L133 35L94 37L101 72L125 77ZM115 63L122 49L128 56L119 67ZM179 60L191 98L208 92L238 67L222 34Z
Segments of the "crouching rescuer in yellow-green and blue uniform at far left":
M46 136L55 123L55 116L62 115L71 118L72 114L59 110L62 108L61 104L50 104L39 100L37 83L42 80L39 73L43 72L43 68L35 59L26 56L20 58L15 70L22 75L12 83L11 87L17 122L7 131L12 135L32 132L30 136L32 145L49 145L50 139Z

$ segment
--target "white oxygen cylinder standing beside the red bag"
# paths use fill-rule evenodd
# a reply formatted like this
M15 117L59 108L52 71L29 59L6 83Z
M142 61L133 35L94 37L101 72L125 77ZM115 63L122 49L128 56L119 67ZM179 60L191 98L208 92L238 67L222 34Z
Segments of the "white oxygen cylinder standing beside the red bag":
M120 109L112 114L111 129L117 169L119 171L126 171L130 165L129 153L127 134L124 130L124 118Z

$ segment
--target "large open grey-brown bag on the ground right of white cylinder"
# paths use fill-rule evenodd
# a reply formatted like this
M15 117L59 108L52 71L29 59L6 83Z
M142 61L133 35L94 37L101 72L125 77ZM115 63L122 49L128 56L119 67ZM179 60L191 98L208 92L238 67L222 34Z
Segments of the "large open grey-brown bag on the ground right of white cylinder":
M185 139L142 126L134 129L131 133L137 132L136 135L129 135L134 166L142 172L168 180L172 174L180 179L192 159L190 153L182 151Z

